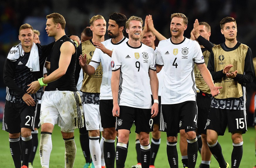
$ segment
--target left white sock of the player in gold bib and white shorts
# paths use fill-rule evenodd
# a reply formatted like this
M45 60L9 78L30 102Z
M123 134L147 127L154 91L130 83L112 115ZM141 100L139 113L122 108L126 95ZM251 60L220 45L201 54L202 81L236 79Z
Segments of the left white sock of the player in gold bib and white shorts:
M101 148L99 145L99 136L89 136L89 148L94 167L101 168Z

